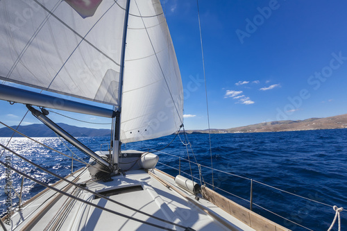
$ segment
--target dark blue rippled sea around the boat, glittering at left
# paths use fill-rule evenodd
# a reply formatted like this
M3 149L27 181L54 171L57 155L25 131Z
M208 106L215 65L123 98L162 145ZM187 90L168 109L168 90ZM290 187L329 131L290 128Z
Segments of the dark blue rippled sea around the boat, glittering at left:
M93 151L107 150L110 143L110 137L78 139ZM212 134L210 146L207 134L192 134L187 137L169 135L123 145L123 148L153 151L167 146L155 153L160 156L158 169L173 176L178 175L180 170L187 178L191 178L187 174L192 173L196 182L210 188L213 185L220 194L247 208L250 207L252 179L253 211L291 230L307 230L301 225L310 230L328 230L335 216L331 206L344 207L345 210L341 212L341 230L347 230L346 139L347 129ZM89 157L59 138L35 140L67 155L73 151L85 162L89 160ZM6 145L7 142L8 138L0 138L1 144ZM8 147L60 176L71 173L71 160L68 157L26 138L13 138ZM0 148L1 153L2 150ZM8 152L3 153L1 161L4 162L5 157L10 160L11 166L46 184L58 180ZM190 167L187 160L192 161ZM193 162L201 164L201 171ZM73 166L77 170L83 164L74 161ZM4 215L8 207L8 197L2 193L8 177L4 166L0 166L0 173L0 209ZM22 177L11 173L10 178L19 193ZM23 200L28 200L43 189L41 185L24 178ZM12 192L12 204L17 203L18 199ZM333 230L337 230L337 223Z

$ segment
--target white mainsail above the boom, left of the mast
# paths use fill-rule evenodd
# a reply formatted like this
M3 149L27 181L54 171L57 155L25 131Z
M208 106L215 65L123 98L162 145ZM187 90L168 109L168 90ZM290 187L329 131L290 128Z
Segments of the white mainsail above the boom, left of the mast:
M0 1L0 79L118 105L125 1Z

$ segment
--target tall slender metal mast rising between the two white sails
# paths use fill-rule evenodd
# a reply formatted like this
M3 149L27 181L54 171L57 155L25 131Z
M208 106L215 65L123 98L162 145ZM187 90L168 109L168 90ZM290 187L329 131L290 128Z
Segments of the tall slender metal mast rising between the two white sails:
M121 69L119 72L119 107L115 119L115 135L113 138L112 147L112 166L114 173L117 174L119 170L118 166L118 154L121 151L120 134L121 134L121 98L123 94L123 80L124 80L124 62L126 56L126 33L128 31L128 18L129 18L130 0L126 1L126 12L124 17L124 28L123 28L123 41L121 44Z

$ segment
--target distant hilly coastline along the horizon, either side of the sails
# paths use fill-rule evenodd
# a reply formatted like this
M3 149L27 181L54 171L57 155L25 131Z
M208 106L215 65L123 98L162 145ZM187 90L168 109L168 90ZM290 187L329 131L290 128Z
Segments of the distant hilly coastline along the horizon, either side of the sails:
M60 128L69 132L74 137L103 137L110 136L110 129L81 128L71 126L65 123L57 123ZM12 126L16 128L16 126ZM256 123L248 126L228 129L210 129L211 133L241 133L241 132L282 132L294 130L319 130L319 129L337 129L347 128L347 114L341 114L335 117L311 118L305 120L285 120ZM19 126L19 132L29 137L56 137L56 134L44 124L31 124ZM208 133L208 130L186 130L188 134ZM11 137L13 131L9 128L0 128L0 137ZM22 137L15 133L14 137Z

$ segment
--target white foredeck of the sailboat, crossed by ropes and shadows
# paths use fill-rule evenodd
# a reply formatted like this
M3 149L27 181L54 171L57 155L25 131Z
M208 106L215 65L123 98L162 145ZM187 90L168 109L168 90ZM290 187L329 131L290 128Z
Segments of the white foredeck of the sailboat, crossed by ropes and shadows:
M210 201L203 198L195 200L193 194L176 186L173 178L156 169L149 172L143 169L127 171L126 176L112 176L110 182L92 181L89 172L81 169L67 179L86 183L88 189L119 203L194 230L253 230ZM59 181L55 187L139 221L171 230L185 230L104 198L95 198L94 194L66 182ZM162 230L133 219L46 190L28 200L22 211L12 215L12 230Z

